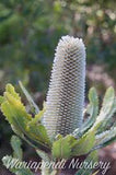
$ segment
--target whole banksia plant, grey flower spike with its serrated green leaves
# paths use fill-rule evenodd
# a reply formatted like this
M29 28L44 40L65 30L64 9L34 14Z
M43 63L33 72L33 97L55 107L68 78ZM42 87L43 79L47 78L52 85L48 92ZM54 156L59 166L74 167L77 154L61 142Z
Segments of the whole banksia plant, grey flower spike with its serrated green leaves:
M85 81L85 48L81 39L65 36L56 49L47 102L43 110L34 103L30 93L20 82L31 114L12 84L7 84L0 96L1 112L16 136L11 138L13 155L2 159L3 165L16 175L34 175L30 168L10 166L10 161L23 161L21 139L33 147L42 163L57 163L85 155L85 161L97 161L97 149L116 140L116 121L111 122L116 112L116 96L108 88L98 110L95 88L89 91L89 105L83 109ZM84 113L89 117L83 120ZM32 115L34 117L32 117ZM76 175L92 175L92 168L79 170ZM60 175L58 168L43 167L42 175ZM94 174L95 175L95 174Z

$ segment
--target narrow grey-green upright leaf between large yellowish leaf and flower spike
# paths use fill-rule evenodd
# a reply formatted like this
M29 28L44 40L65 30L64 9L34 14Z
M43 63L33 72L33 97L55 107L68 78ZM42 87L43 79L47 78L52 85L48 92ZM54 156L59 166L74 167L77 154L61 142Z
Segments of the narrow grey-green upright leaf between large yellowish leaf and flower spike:
M39 108L38 106L35 104L35 102L33 101L32 96L30 95L30 93L27 92L27 90L24 88L24 85L22 84L21 81L19 81L19 84L20 84L20 88L22 89L23 93L25 94L30 105L31 105L31 108L32 108L32 112L35 112L35 114L38 114L39 113Z

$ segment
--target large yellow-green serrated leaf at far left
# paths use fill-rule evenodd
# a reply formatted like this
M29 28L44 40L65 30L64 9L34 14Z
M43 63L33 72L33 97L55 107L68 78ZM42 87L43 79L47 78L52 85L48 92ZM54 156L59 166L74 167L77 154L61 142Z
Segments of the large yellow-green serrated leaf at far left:
M36 141L37 145L39 145L40 148L46 148L45 144L42 144L42 138L44 140L45 137L45 129L44 126L40 126L40 131L43 130L43 137L40 137L40 141L38 142L37 140L35 140L35 137L32 137L31 131L27 131L27 124L32 120L32 116L30 114L26 113L26 109L24 107L24 105L21 103L20 100L16 100L15 97L13 97L9 92L4 93L4 97L5 97L5 102L1 104L1 110L4 114L4 116L7 117L8 121L10 122L13 131L19 135L21 138L24 139L24 136L27 137L27 139L30 138L32 141ZM34 126L35 127L35 126ZM35 132L36 132L36 128L34 128ZM40 133L39 133L40 136ZM37 136L38 138L38 136ZM27 140L26 139L26 140ZM46 137L45 137L46 139ZM44 141L43 141L44 142ZM47 142L47 139L46 139Z

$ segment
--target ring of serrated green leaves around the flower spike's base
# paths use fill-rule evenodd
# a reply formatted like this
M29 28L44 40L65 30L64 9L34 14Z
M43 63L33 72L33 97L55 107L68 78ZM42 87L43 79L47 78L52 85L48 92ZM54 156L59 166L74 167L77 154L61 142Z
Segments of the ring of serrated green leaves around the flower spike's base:
M15 92L11 84L7 84L3 96L0 96L1 110L15 135L34 147L44 161L69 160L70 158L85 154L89 154L89 159L94 154L95 150L106 147L116 140L116 122L107 130L107 124L116 112L116 96L113 88L107 89L100 112L97 93L92 88L89 92L90 103L84 110L84 113L89 114L89 118L83 122L82 127L77 128L73 133L66 137L57 135L51 139L43 125L45 107L39 110L21 82L20 86L30 102L34 117L26 112L20 94ZM14 158L22 160L19 138L13 137L11 145L14 150ZM80 175L80 172L77 175Z

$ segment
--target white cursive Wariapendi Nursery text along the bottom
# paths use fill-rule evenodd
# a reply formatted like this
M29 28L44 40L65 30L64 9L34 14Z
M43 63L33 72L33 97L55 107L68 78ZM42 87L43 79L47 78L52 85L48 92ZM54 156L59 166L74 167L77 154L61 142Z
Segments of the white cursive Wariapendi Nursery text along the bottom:
M61 160L58 162L35 162L35 161L20 161L18 159L12 159L9 158L9 161L7 163L7 168L31 168L37 172L37 170L43 170L43 168L53 168L53 170L65 170L65 168L74 168L74 170L96 170L100 168L102 170L102 174L105 175L107 170L111 168L111 163L109 162L88 162L83 161L80 162L79 159L72 159L68 165L66 160Z

